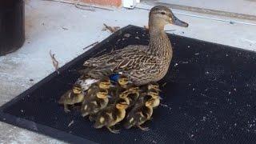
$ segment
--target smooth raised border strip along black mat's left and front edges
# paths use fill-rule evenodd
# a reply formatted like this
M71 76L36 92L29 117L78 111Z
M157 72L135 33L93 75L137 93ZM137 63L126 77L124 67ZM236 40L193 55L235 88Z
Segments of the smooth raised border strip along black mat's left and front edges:
M92 53L95 49L100 48L105 42L109 41L109 39L114 38L118 34L122 33L122 31L127 30L130 27L132 27L132 26L133 25L128 25L128 26L122 27L122 29L118 30L114 34L111 34L109 37L105 38L102 42L99 42L97 45L95 45L94 47L90 48L90 50L86 50L86 52L80 54L78 57L76 57L76 58L72 59L70 62L67 62L66 64L64 64L64 66L59 68L60 74L64 70L66 70L70 66L72 66L72 64L74 64L75 62L78 62L79 60L81 60L81 58L88 57L90 55L90 53ZM82 143L82 142L96 143L96 142L90 141L88 139L84 139L84 138L78 137L78 136L76 136L74 134L69 134L69 133L66 133L64 131L54 129L54 128L49 127L49 126L44 126L42 124L35 123L33 121L30 121L30 120L26 120L24 118L18 118L18 117L14 116L14 115L7 114L7 113L4 112L4 110L8 106L10 106L14 102L18 102L22 98L26 97L26 95L30 94L31 92L36 90L38 87L43 86L46 82L49 82L51 78L54 78L57 75L58 75L58 72L54 71L53 73L47 75L45 78L42 78L41 81L37 82L36 84L31 86L27 90L23 91L21 94L18 94L18 96L12 98L9 102L6 102L2 106L0 106L0 121L1 122L5 122L5 123L9 123L9 124L11 124L13 126L21 127L22 129L34 131L34 132L36 132L38 134L43 134L43 135L49 136L50 138L57 138L58 140L65 141L65 142L72 142L72 143ZM18 121L17 121L17 119L18 119ZM33 127L30 126L30 122L33 122L33 123L36 124L37 130L35 130ZM44 130L45 133L43 133L42 131L38 130L38 128L41 128L42 130ZM56 136L56 134L58 134L58 135ZM70 140L70 138L72 138L72 140Z

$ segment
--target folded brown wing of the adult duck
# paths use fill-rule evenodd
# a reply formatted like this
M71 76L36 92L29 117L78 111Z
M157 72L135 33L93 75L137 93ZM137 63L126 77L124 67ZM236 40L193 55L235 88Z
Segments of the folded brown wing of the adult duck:
M146 56L148 46L126 46L122 50L114 50L112 53L104 54L97 58L90 58L83 66L94 67L92 71L111 70L121 71L132 68L134 63Z

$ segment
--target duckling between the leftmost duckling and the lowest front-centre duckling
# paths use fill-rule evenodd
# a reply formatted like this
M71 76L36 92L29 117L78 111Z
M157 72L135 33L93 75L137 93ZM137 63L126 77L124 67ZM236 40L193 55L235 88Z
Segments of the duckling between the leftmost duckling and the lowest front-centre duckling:
M84 98L81 107L83 117L86 117L89 114L98 113L98 111L104 109L109 102L108 91L105 89L98 90L94 95Z

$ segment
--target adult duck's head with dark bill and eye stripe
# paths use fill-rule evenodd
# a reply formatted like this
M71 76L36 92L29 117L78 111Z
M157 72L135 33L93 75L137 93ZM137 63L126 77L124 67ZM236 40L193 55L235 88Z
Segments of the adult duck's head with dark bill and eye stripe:
M150 22L149 26L158 26L163 28L167 24L173 24L177 26L187 27L186 22L179 20L173 12L166 6L154 6L150 10Z

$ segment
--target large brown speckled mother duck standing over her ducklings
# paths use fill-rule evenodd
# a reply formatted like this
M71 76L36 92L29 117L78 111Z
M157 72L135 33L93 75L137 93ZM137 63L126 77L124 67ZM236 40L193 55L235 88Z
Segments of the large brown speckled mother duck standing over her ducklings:
M86 67L85 74L97 79L106 74L105 72L122 73L137 86L158 82L166 75L173 55L170 40L164 30L167 24L188 26L186 22L176 18L166 6L154 6L149 16L148 46L126 46L122 50L90 58L83 64ZM77 83L81 82L84 81L80 79Z

